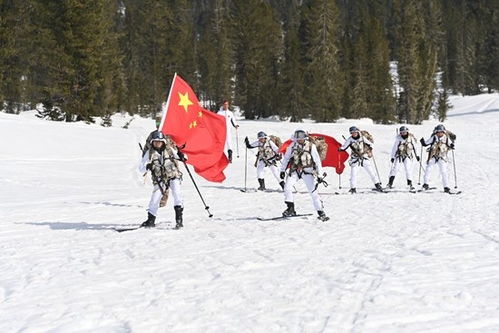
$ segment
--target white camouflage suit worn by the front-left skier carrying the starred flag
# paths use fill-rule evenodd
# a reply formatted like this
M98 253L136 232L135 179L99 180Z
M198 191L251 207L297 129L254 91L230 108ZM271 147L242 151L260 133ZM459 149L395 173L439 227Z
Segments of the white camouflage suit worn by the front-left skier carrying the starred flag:
M165 192L168 192L169 189L171 189L173 194L173 205L183 207L183 200L180 192L182 173L178 168L177 160L180 160L177 151L169 145L167 145L162 152L158 152L154 148L151 148L146 151L144 157L142 157L139 166L139 171L141 173L146 172L149 163L151 163L152 166L151 178L154 187L147 211L154 216L157 216L158 214L159 203L163 196L161 189Z

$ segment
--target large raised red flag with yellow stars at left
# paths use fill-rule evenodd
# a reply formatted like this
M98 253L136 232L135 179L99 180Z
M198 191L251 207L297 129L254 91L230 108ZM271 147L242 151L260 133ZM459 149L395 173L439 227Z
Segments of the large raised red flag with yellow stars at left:
M187 155L187 163L198 175L211 182L225 180L229 164L224 154L225 118L203 109L192 88L177 74L163 111L161 131L169 135Z

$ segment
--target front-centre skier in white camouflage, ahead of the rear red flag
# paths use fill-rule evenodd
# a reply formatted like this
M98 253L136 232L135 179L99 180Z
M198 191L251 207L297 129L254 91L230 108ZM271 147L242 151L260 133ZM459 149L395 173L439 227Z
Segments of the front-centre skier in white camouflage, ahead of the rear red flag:
M310 142L308 134L303 130L296 130L292 140L293 142L286 149L281 163L280 177L283 180L286 178L284 202L287 206L282 215L285 217L296 215L293 186L302 179L312 197L318 218L322 221L327 221L329 217L324 213L322 200L317 193L317 186L324 181L324 177L326 176L326 173L322 169L322 162L317 147ZM288 167L289 171L286 177Z

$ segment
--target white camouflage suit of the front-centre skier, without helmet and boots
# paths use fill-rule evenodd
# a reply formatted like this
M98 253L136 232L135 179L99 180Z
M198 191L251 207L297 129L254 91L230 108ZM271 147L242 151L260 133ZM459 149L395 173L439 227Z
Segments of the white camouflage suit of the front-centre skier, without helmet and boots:
M286 171L289 162L291 162L291 166L284 185L284 201L294 202L293 186L302 179L312 197L315 210L324 210L321 198L316 190L314 177L315 174L323 174L317 147L308 139L305 140L304 144L299 144L296 139L293 139L282 159L281 172ZM299 165L303 165L303 168Z

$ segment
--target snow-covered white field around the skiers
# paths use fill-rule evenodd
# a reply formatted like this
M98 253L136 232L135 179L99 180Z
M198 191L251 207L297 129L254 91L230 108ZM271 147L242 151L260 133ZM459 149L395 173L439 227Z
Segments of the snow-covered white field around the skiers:
M296 208L313 216L258 221L285 204L270 172L276 191L240 191L246 135L304 128L342 141L355 124L374 135L386 184L399 125L242 120L227 180L195 176L212 219L184 172L185 228L171 230L169 202L156 229L123 233L112 228L146 218L137 143L152 120L125 130L119 116L103 128L0 113L0 332L499 332L499 95L452 102L461 195L442 193L437 169L434 193L406 193L403 173L398 192L370 193L360 171L369 193L333 195L326 168L330 221L303 184ZM409 127L419 139L436 124Z

